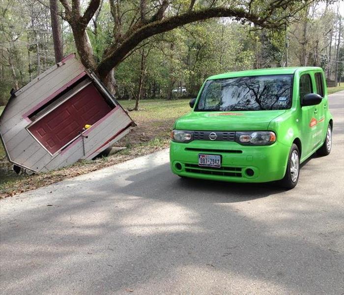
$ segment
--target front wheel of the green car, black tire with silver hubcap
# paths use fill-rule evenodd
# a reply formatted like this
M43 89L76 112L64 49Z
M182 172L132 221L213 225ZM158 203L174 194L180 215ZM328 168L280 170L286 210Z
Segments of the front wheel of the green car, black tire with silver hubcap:
M299 181L300 175L300 152L299 148L292 144L285 176L279 181L281 187L285 189L292 189Z

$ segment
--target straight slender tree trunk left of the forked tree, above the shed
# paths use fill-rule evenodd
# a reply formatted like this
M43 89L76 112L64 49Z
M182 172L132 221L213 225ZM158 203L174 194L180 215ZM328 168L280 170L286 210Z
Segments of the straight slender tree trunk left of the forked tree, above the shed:
M55 62L58 63L63 59L63 45L61 38L61 26L57 14L57 0L49 0L50 3L50 18L53 31L53 42L55 52Z

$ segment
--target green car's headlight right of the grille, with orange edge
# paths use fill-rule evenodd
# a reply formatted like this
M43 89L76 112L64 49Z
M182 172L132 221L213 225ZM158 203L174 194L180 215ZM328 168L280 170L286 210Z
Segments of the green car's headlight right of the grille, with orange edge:
M268 146L276 141L276 134L272 131L236 132L235 141L241 145Z

